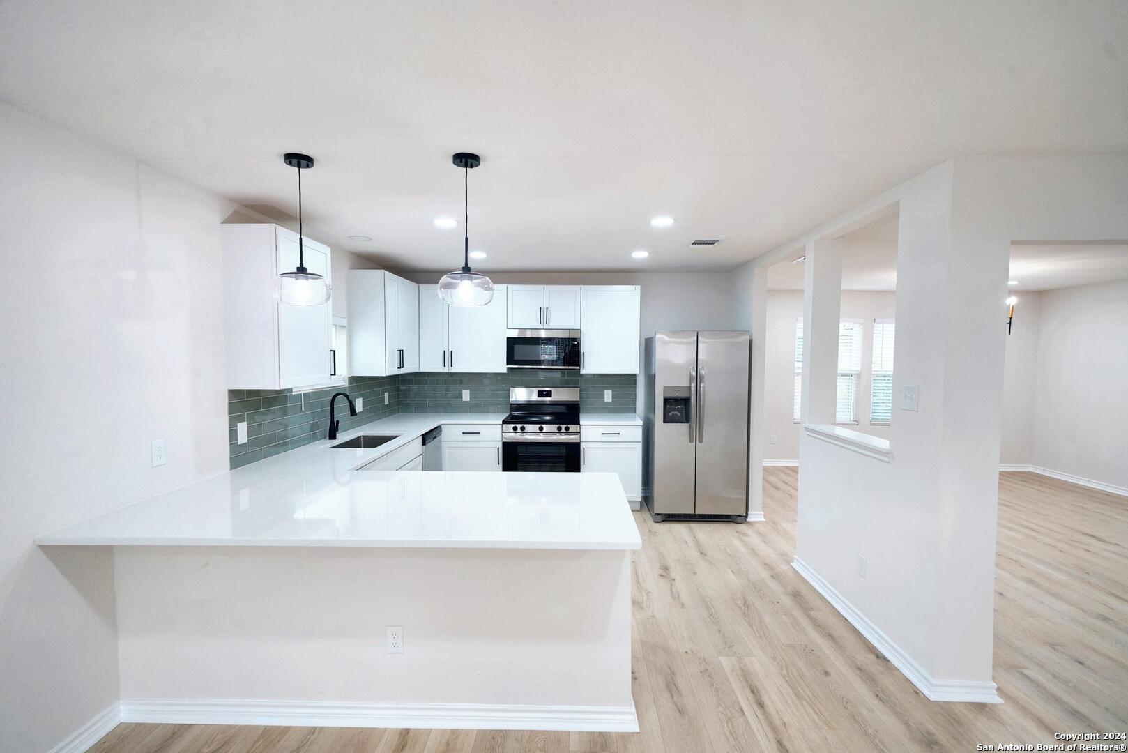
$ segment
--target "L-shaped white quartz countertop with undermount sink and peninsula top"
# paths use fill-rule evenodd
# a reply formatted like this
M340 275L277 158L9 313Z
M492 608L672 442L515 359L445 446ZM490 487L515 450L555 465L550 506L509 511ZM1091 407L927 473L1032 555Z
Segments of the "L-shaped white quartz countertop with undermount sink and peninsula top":
M36 539L41 545L629 550L642 541L614 473L355 471L442 423L400 413ZM334 449L359 434L399 434Z

